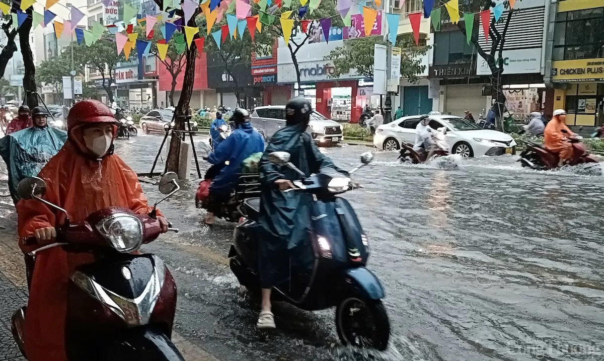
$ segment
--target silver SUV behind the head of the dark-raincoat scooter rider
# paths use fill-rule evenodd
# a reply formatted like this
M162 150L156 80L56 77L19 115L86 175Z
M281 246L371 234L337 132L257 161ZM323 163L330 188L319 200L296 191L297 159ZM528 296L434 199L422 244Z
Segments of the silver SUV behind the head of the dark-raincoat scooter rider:
M261 106L252 112L251 123L256 129L262 131L266 139L285 127L285 106ZM342 126L313 110L306 130L320 144L335 144L344 140Z

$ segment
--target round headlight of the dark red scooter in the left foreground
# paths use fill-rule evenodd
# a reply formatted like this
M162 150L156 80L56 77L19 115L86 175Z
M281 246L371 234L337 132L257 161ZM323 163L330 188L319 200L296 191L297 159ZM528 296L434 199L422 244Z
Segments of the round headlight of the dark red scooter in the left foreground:
M136 251L143 243L143 223L131 214L114 214L98 223L97 229L118 252Z

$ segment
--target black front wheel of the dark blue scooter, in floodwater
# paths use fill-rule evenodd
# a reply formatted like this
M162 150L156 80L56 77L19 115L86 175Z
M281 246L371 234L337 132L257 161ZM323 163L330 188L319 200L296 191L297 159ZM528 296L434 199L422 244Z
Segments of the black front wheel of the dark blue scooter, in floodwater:
M390 321L379 299L345 298L336 308L336 329L344 345L384 351L390 339Z

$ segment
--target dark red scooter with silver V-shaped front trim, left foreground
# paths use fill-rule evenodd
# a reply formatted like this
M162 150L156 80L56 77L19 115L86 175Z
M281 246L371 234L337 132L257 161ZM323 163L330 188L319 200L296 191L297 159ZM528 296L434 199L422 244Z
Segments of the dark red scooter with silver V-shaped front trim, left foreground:
M19 182L18 193L23 199L36 199L66 216L65 223L57 227L56 243L34 249L34 237L24 241L33 249L26 257L28 275L36 255L51 248L95 256L94 263L77 267L69 277L65 319L68 360L184 361L170 340L176 309L175 281L161 258L137 252L141 244L150 243L160 234L156 206L178 192L176 179L176 173L164 174L159 191L165 196L149 214L109 207L79 223L69 222L65 209L42 199L44 180L30 177ZM169 225L169 231L178 229ZM27 307L19 308L11 319L11 331L27 358L25 317Z

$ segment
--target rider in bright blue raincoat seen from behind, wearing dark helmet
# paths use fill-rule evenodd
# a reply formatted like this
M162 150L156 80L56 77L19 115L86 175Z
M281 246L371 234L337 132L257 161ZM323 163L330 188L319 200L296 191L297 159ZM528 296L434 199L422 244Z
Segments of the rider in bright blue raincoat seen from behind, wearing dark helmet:
M231 196L231 190L237 183L237 174L241 173L243 161L254 153L262 153L264 150L264 139L251 124L249 124L249 112L245 109L235 109L231 117L236 129L214 148L214 152L208 155L207 160L211 164L221 165L228 161L214 177L210 185L211 205L205 217L205 223L214 223L214 213L218 211L220 204L226 202Z

